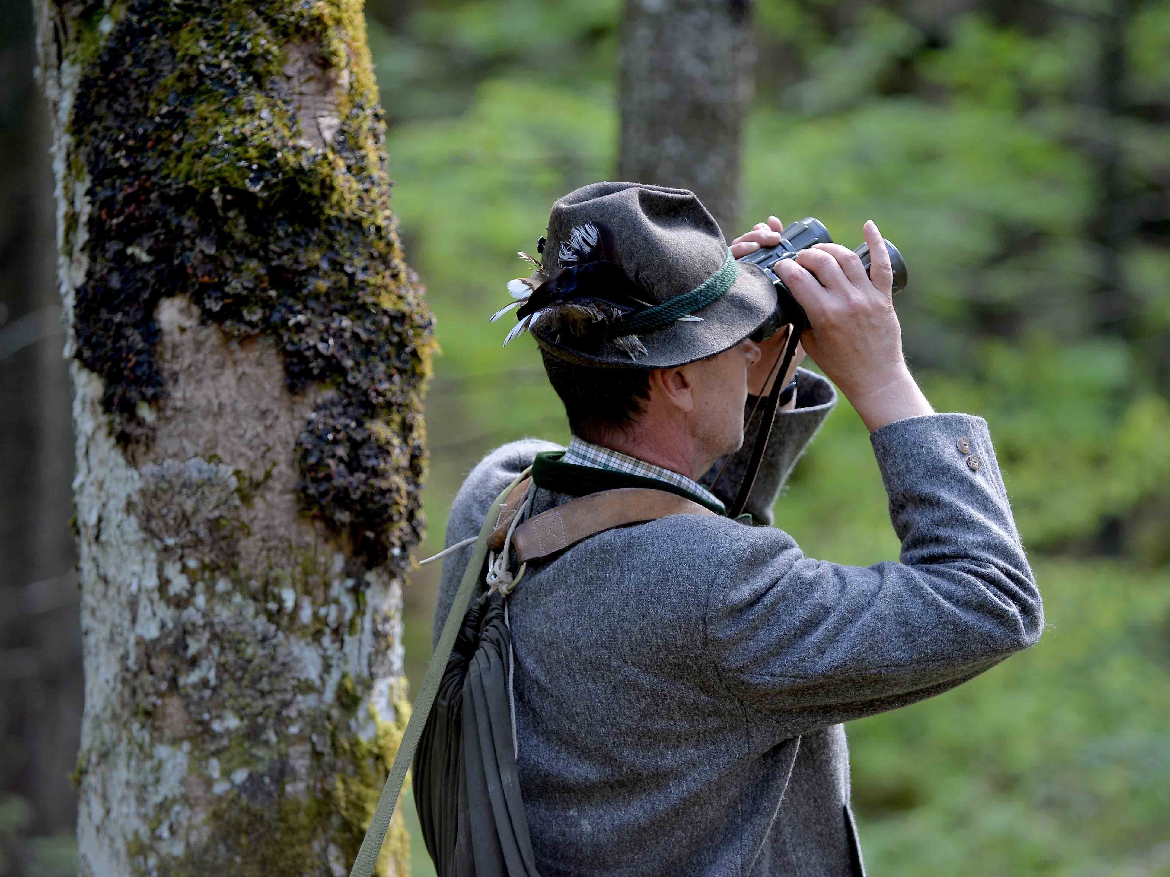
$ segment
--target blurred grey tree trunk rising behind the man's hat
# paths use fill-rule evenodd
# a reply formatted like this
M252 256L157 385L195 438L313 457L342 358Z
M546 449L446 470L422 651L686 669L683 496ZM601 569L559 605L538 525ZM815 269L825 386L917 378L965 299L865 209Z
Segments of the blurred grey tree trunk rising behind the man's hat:
M751 0L626 0L622 26L618 174L691 189L724 235L739 221L751 18Z

